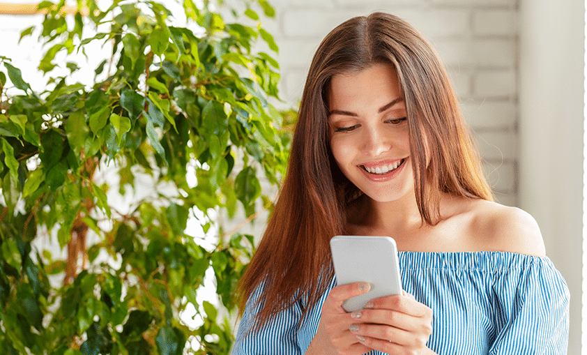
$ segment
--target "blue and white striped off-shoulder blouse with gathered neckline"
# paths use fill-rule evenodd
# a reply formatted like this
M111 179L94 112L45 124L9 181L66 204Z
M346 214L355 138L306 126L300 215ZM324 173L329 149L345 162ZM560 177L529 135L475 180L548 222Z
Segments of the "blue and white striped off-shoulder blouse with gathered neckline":
M569 290L547 257L511 252L399 252L404 289L434 311L427 343L437 354L566 354ZM298 303L260 331L250 297L233 355L305 354L316 334L322 303L302 319ZM302 301L303 302L303 301ZM372 351L369 355L382 355Z

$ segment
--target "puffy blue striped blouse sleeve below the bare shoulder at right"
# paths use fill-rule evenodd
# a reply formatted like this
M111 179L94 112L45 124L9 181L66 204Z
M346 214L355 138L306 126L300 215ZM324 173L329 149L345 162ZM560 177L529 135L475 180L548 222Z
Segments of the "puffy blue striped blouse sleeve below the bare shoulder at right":
M546 258L494 279L496 338L489 355L567 354L569 289Z

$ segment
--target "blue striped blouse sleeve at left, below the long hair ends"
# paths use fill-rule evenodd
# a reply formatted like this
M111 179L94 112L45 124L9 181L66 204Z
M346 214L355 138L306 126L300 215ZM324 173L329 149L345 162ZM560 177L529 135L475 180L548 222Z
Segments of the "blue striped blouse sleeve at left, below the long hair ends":
M297 328L302 310L298 303L277 313L258 330L253 328L254 316L260 308L257 299L263 289L263 285L259 286L247 301L232 355L301 355Z

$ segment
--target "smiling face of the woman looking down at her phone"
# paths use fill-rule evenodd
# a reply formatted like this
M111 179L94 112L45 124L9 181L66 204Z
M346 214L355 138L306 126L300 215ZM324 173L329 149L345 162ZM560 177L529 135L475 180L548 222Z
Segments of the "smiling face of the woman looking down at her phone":
M377 202L413 190L406 106L393 66L335 75L328 108L330 148L355 186Z

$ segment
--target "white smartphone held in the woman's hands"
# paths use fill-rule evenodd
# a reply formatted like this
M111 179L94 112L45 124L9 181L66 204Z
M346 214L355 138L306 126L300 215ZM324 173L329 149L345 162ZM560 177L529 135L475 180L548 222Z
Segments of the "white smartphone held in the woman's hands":
M366 294L342 303L346 312L363 309L378 297L402 293L397 246L390 236L334 236L330 250L338 285L369 282Z

